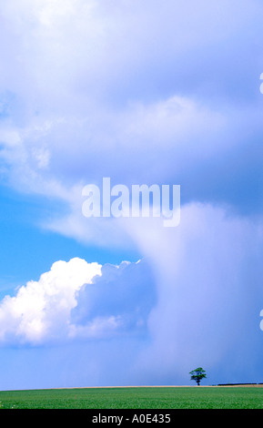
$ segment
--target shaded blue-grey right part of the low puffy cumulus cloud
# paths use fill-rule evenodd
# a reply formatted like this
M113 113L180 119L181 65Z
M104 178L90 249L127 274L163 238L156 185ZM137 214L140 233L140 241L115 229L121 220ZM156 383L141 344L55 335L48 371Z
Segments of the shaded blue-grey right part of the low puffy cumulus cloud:
M93 319L119 321L119 331L147 333L147 318L156 304L156 288L146 260L102 266L101 276L77 293L72 322L79 327Z

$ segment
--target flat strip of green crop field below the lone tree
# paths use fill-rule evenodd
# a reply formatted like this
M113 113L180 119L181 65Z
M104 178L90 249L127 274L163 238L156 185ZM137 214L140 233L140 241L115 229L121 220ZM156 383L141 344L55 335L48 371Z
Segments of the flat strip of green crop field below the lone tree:
M0 392L1 409L263 409L260 387L130 387Z

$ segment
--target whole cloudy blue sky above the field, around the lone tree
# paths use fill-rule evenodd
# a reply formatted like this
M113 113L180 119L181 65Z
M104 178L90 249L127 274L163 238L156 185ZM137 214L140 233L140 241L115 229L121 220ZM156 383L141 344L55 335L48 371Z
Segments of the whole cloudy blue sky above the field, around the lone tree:
M263 382L263 5L0 6L0 390ZM180 186L180 221L86 185Z

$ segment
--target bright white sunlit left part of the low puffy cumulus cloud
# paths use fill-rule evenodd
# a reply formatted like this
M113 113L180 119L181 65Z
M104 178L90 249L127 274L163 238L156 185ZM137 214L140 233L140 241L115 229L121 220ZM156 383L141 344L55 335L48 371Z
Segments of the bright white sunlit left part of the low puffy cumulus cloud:
M76 306L76 291L100 274L97 263L56 261L38 281L27 282L14 297L5 296L0 305L1 341L38 343L63 337Z

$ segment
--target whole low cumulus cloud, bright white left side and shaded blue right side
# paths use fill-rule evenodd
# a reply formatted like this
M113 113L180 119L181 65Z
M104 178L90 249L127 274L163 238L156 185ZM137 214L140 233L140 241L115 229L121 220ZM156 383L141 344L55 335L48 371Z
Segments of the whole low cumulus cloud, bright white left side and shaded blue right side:
M2 343L44 344L144 331L154 304L146 263L56 261L0 303Z

